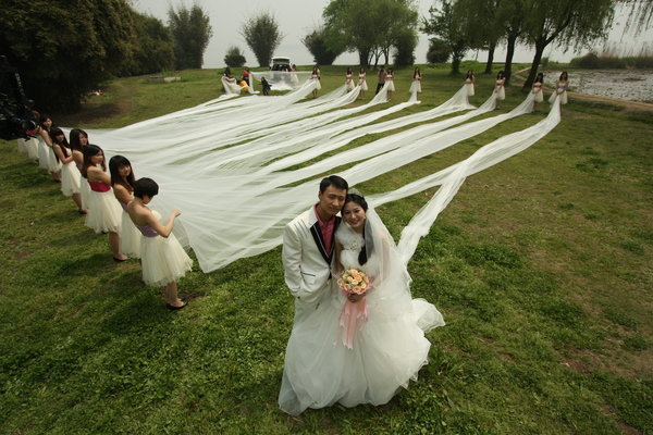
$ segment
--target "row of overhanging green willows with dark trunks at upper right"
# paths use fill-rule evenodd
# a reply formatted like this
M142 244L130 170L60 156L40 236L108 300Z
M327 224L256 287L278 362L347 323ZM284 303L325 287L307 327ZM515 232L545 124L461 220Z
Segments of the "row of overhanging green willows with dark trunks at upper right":
M646 0L650 1L650 0ZM534 49L525 88L530 89L544 49L550 45L582 48L609 30L616 0L439 0L422 18L421 30L431 35L429 52L452 59L458 73L468 50L488 51L485 73L492 72L494 50L506 46L504 71L509 80L518 42Z

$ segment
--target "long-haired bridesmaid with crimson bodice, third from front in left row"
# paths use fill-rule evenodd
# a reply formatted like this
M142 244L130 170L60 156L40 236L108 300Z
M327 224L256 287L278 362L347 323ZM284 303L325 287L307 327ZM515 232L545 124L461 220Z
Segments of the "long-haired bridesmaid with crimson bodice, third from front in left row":
M91 190L88 214L84 224L93 228L96 234L109 233L113 261L127 260L128 258L120 251L120 206L111 194L111 178L107 175L104 152L97 145L87 145L84 148L82 175L86 175Z

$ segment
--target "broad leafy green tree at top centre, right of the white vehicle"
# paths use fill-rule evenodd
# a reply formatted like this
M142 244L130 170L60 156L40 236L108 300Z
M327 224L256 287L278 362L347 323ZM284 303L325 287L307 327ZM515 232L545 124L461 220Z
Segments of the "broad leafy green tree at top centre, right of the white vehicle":
M331 0L324 8L330 48L345 47L358 51L360 65L374 66L396 47L406 29L415 29L418 14L412 0Z

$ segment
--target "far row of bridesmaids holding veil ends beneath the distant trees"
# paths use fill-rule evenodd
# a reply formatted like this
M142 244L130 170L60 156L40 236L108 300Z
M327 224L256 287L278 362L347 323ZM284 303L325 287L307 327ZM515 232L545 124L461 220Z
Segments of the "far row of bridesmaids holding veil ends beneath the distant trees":
M410 88L408 90L410 94L421 92L421 79L422 79L421 71L419 70L419 67L416 67L412 71L412 83L410 84ZM394 72L392 69L381 67L381 70L379 71L379 87L378 87L377 91L379 91L379 89L385 83L389 83L387 99L390 100L392 97L392 92L395 90ZM467 74L465 76L465 87L468 90L467 95L469 97L472 97L475 95L475 90L473 90L475 83L476 83L476 78L473 76L473 71L468 70ZM496 80L494 82L494 90L493 90L493 92L496 94L496 109L498 109L500 101L505 100L505 98L506 98L506 91L505 91L505 87L504 87L505 83L506 83L505 73L503 71L500 71L498 74L496 74ZM358 72L358 83L356 85L354 85L352 67L350 66L347 67L347 72L345 74L345 86L347 88L347 92L353 90L355 86L360 86L360 97L365 97L365 91L368 90L365 67L362 67L362 66L360 67L359 72ZM531 90L532 94L535 95L533 111L535 110L537 103L544 101L543 86L544 86L544 74L539 73L538 76L535 77L535 82L533 83L532 90ZM555 83L555 89L552 92L551 97L549 98L549 102L553 102L555 97L559 96L560 104L566 104L568 87L569 87L569 77L567 76L567 72L564 71Z

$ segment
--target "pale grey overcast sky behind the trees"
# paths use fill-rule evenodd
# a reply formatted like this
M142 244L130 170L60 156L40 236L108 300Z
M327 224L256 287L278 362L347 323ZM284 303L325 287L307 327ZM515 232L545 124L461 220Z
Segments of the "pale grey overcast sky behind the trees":
M190 7L190 0L132 0L134 8L144 13L149 13L163 22L168 21L168 10L170 7L178 8L182 4ZM204 67L215 69L224 66L224 54L226 50L236 46L244 52L247 64L257 66L256 57L245 44L245 39L239 30L249 16L254 16L262 11L270 12L276 18L281 32L284 35L281 45L274 52L275 55L286 55L293 63L298 65L308 65L312 63L312 55L301 44L301 38L322 24L322 11L329 4L329 0L248 0L243 2L226 2L223 0L197 0L197 3L208 13L213 36L205 52ZM420 16L427 16L429 8L433 0L416 0ZM626 14L617 12L613 28L608 37L608 45L617 52L637 54L640 49L648 45L649 50L653 50L653 28L646 32L632 35L624 35L624 25ZM596 42L596 50L601 51L604 42ZM419 34L419 44L415 51L416 63L426 63L427 50L429 48L428 36ZM544 55L551 61L568 62L571 58L582 55L582 52L564 52L560 48L549 47ZM531 62L534 49L529 47L518 47L514 61ZM486 60L484 51L469 51L466 59ZM494 60L503 62L505 60L505 50L498 48L495 51ZM343 53L334 62L337 65L358 64L357 53Z

